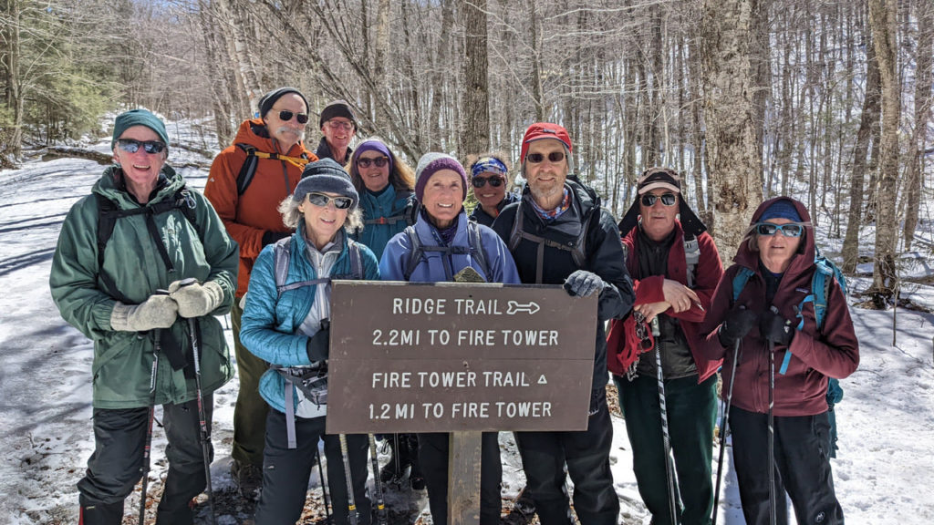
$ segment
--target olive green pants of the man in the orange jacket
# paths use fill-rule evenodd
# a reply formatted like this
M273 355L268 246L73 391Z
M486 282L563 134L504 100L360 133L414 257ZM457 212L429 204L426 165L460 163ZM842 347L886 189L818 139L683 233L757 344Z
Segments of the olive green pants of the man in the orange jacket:
M269 364L253 355L240 343L241 318L243 308L240 307L240 299L237 298L231 307L231 324L240 390L237 391L236 404L233 406L231 457L234 461L253 464L262 470L262 448L265 447L269 405L260 395L260 377L269 370Z

